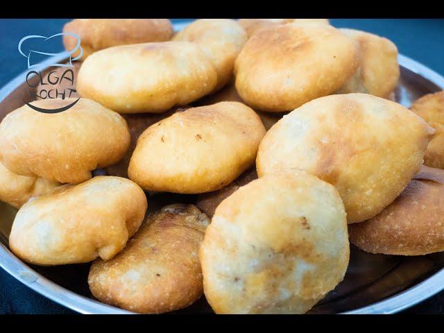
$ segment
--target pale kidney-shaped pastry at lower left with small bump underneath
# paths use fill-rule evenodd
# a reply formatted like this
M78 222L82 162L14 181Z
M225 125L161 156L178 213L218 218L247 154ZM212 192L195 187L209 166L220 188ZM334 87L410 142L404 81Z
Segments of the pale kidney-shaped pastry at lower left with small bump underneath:
M99 176L37 196L15 216L9 246L42 266L111 259L141 225L144 191L125 178Z

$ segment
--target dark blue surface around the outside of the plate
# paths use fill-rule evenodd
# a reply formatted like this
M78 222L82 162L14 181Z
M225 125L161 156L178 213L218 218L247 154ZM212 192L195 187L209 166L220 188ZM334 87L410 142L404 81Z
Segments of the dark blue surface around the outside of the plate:
M69 19L0 19L0 87L26 70L17 44L26 35L50 36ZM331 19L332 25L357 28L392 40L400 53L444 75L444 19ZM59 45L62 51L62 44ZM408 309L444 314L444 293ZM28 289L0 268L0 314L73 313Z

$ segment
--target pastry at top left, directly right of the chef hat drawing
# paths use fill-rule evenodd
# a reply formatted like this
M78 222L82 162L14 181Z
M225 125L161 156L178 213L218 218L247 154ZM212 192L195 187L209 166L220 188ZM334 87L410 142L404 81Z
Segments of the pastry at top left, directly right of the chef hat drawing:
M169 19L74 19L63 27L63 33L75 33L83 48L81 60L111 46L164 42L173 37ZM65 49L72 50L78 40L63 36ZM78 56L76 51L72 56Z

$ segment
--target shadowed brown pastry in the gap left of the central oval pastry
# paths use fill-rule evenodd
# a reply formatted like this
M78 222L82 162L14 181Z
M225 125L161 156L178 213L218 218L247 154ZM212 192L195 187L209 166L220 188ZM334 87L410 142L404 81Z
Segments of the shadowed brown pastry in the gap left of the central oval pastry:
M153 123L157 123L157 121L161 121L162 119L171 116L171 114L174 112L180 112L186 110L187 108L189 107L185 106L184 108L173 108L162 113L122 114L122 117L126 120L126 123L128 123L128 129L130 130L130 148L128 148L125 156L119 162L104 168L107 175L128 178L128 166L130 165L130 159L133 155L134 149L136 148L137 139L139 139L139 136L144 132L144 130L153 125Z

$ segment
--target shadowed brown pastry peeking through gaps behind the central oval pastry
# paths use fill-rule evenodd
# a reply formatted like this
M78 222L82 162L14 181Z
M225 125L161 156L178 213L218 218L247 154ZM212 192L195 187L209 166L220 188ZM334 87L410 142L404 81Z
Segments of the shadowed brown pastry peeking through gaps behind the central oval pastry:
M210 105L219 102L241 102L245 104L245 102L242 101L241 96L239 96L239 94L237 93L234 83L229 83L218 92L215 92L214 94L205 96L203 99L200 99L200 101L198 101L196 105ZM269 130L271 126L277 123L279 119L281 119L284 115L284 113L282 112L275 113L256 111L256 113L262 120L262 123L264 123L266 130Z

